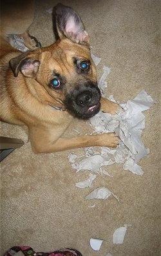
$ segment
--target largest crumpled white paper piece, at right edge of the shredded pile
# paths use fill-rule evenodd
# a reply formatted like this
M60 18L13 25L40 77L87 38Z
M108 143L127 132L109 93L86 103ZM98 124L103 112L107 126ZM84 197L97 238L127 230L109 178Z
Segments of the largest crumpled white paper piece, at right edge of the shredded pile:
M149 153L141 138L142 129L145 128L145 116L142 111L149 109L153 103L151 96L146 91L141 91L123 106L126 112L121 116L120 124L115 129L115 133L134 155L136 163Z

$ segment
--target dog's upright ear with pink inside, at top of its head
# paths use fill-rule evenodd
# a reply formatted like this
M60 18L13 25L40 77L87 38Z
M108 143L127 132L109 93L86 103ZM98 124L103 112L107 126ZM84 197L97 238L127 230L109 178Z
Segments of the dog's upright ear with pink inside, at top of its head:
M90 38L81 17L70 7L59 3L53 8L53 28L57 28L60 39L67 37L74 43L89 45Z

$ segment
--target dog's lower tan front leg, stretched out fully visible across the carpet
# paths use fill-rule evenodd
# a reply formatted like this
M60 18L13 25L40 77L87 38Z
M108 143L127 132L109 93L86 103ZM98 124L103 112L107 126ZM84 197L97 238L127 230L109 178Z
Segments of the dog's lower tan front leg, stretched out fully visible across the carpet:
M29 129L32 148L35 153L52 153L79 147L117 147L118 136L115 133L104 133L77 138L56 138L56 131L47 129ZM58 134L56 134L58 136Z

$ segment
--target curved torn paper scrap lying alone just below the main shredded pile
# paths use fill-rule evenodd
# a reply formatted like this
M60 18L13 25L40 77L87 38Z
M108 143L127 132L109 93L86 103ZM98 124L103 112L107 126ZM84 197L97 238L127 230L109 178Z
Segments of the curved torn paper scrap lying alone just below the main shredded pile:
M94 189L89 195L86 196L87 200L91 200L91 199L108 199L108 197L110 197L110 195L113 195L113 197L115 197L118 202L119 199L118 197L111 192L107 187L98 187L97 189Z

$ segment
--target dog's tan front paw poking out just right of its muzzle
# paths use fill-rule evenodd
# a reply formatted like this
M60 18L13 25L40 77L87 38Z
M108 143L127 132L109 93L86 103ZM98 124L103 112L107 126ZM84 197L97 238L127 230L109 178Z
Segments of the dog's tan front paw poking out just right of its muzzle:
M121 107L106 98L100 98L100 110L109 114L117 114Z

